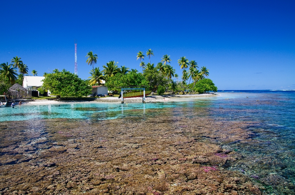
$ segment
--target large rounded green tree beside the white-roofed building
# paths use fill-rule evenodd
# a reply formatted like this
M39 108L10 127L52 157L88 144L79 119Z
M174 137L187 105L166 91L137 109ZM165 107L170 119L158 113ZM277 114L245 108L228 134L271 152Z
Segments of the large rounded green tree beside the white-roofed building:
M52 95L60 96L88 96L92 92L92 87L88 81L82 80L73 73L63 69L61 72L54 69L53 73L48 73L43 79L39 92L50 91Z

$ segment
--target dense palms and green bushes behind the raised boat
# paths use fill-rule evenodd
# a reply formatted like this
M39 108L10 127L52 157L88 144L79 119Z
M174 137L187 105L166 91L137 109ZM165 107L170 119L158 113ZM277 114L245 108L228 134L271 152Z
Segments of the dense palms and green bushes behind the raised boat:
M95 56L95 57L94 57ZM118 67L118 62L109 61L103 65L103 70L93 68L89 73L90 85L101 85L104 83L108 90L117 92L119 86L133 86L133 85L148 85L147 90L157 91L158 94L169 92L171 94L182 92L186 93L206 93L209 91L217 91L217 87L212 80L206 79L209 76L209 69L206 66L201 67L195 60L189 61L185 56L179 58L178 65L182 69L181 79L178 74L175 74L175 69L170 65L170 55L163 55L161 61L155 66L151 63L151 57L154 53L148 49L146 56L142 51L136 55L136 60L140 60L139 66L142 72L138 73L136 69L131 69L124 66ZM86 56L87 63L96 64L97 55L92 54L92 51ZM146 64L144 58L148 57L149 62ZM169 63L169 64L168 64ZM187 83L188 81L188 83Z

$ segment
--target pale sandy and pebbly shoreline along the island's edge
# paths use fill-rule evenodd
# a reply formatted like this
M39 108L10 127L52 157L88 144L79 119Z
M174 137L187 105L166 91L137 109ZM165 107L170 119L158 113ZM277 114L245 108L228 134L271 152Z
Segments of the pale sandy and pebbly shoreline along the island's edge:
M198 97L215 97L218 96L218 94L214 93L205 93L205 94L184 94L184 95L163 95L163 96L147 96L146 102L162 102L162 101L171 101L172 99L182 99L182 98L198 98ZM101 102L101 103L119 103L121 102L121 99L118 97L105 97L105 98L96 98L91 101L85 101L85 100L48 100L48 99L35 99L35 101L24 101L22 102L23 105L37 105L37 104L60 104L60 103L77 103L77 102L84 102L84 103L90 103L90 102ZM142 97L137 98L125 98L124 102L142 102Z

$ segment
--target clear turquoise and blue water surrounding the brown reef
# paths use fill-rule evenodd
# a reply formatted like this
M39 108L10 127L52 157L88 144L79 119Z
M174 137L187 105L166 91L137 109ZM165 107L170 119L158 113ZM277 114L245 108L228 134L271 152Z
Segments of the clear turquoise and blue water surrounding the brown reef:
M104 120L126 116L150 116L149 109L187 109L186 117L206 116L215 120L251 121L253 136L248 142L223 143L210 140L222 148L234 150L236 161L224 168L239 171L252 182L263 186L265 194L294 194L295 190L295 91L222 91L216 97L181 98L148 103L60 103L25 104L0 108L0 121L33 118L79 118ZM223 107L223 109L219 109ZM205 109L197 112L195 108ZM196 112L194 112L196 111ZM153 116L151 116L153 117Z

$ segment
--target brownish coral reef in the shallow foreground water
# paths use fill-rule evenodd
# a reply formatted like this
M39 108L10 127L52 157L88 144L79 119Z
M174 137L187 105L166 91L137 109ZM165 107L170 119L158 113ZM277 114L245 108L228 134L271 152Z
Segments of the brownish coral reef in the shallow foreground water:
M0 193L260 194L244 174L223 167L235 152L213 143L246 142L251 122L173 111L2 122Z

